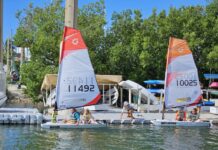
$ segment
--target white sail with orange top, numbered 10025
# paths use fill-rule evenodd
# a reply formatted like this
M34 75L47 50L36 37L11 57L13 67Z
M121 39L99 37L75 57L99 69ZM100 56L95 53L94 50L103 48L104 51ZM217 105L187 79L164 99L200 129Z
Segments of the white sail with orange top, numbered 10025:
M201 98L198 71L187 42L170 38L165 72L165 107L195 105Z

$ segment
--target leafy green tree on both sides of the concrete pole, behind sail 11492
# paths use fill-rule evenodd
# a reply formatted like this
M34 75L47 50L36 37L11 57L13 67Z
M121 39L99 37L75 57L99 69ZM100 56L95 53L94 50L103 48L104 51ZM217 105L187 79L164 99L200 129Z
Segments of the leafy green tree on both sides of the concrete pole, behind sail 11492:
M78 28L81 29L94 64L98 68L104 61L102 48L104 41L104 1L100 0L84 6L79 11ZM22 83L27 86L27 94L38 100L45 74L57 73L60 42L64 27L64 8L61 0L55 0L44 7L33 7L17 13L20 26L14 36L15 45L29 47L31 61L21 66ZM106 67L105 67L106 68ZM103 70L103 69L99 69Z

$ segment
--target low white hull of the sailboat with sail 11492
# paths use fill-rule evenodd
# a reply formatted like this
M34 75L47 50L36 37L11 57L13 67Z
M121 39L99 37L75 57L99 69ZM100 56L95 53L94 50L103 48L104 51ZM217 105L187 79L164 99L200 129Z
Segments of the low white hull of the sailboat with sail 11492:
M92 128L104 128L107 125L104 123L97 123L97 124L66 124L62 122L58 123L52 123L52 122L47 122L41 124L42 128L45 129L52 129L52 128L60 128L60 129L92 129Z

